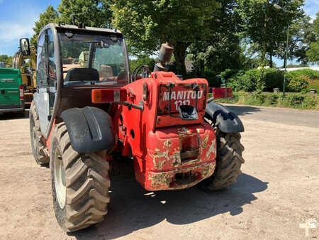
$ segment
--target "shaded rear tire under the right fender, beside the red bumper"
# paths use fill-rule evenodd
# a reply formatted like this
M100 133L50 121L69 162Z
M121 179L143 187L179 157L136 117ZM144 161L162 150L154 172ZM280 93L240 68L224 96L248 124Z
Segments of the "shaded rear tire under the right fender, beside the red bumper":
M201 182L201 188L209 192L227 189L236 182L242 172L240 167L245 163L242 158L244 146L240 143L240 133L223 133L216 131L217 158L213 175Z

